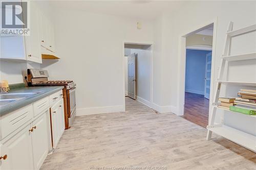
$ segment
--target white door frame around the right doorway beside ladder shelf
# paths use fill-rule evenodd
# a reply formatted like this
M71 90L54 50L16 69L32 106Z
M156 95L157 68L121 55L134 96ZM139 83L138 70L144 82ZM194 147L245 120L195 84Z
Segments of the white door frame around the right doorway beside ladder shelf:
M185 34L181 34L179 37L179 69L178 69L178 93L177 93L177 115L184 115L184 104L185 104L185 69L186 69L186 37L202 31L209 26L213 25L213 35L212 35L212 57L211 57L211 79L210 79L210 97L209 97L209 117L211 113L211 103L213 101L213 87L214 87L214 78L215 78L215 60L216 60L216 38L217 38L217 22L218 17L203 23L202 25L197 26L195 29L188 30Z

